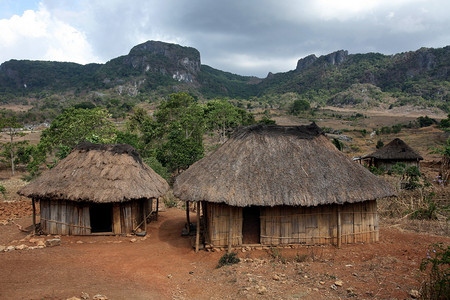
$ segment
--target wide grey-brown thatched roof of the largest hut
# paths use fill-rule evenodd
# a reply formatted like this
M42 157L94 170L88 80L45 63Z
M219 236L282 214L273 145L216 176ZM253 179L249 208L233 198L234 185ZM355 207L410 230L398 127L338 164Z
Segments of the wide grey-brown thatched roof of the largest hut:
M353 203L395 192L338 151L313 123L241 128L181 173L174 194L242 207Z

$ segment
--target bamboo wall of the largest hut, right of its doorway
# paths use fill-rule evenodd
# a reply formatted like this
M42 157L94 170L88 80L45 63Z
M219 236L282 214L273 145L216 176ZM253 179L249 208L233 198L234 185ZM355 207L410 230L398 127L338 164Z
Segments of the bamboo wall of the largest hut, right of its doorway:
M261 244L337 244L337 205L261 208ZM378 241L376 201L340 206L342 243Z

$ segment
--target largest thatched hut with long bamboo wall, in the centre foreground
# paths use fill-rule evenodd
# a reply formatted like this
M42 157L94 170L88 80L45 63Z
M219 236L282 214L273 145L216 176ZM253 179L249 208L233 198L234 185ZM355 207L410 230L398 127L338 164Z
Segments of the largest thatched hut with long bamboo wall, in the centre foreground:
M377 241L376 199L395 192L313 123L241 128L181 173L174 194L197 202L207 245L231 249Z

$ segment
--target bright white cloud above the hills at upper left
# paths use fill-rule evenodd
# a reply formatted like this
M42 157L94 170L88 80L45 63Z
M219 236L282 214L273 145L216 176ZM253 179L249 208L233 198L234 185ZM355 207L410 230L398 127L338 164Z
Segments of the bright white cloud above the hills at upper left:
M0 61L10 59L98 61L85 34L52 16L42 5L37 11L0 20Z

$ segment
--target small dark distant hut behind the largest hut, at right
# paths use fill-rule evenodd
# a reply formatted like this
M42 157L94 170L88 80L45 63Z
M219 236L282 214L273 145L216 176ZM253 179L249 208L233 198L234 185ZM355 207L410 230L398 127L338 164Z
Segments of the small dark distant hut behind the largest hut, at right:
M361 159L368 161L370 166L390 170L398 162L404 163L407 167L419 168L419 162L423 157L404 141L396 138L377 151L362 156Z

